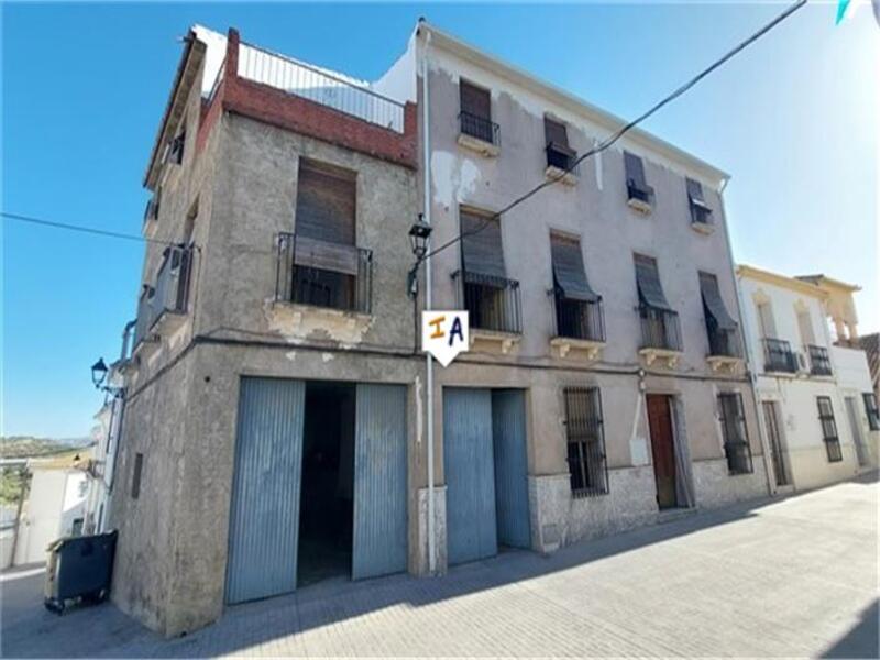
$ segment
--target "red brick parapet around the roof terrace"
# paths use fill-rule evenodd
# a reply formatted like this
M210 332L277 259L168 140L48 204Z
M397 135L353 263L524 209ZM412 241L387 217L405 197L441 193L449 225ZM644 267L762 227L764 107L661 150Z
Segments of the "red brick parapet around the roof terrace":
M404 132L398 133L282 89L239 77L239 45L238 31L230 30L223 79L202 112L197 151L204 148L222 109L383 161L414 169L418 166L415 103L405 105Z

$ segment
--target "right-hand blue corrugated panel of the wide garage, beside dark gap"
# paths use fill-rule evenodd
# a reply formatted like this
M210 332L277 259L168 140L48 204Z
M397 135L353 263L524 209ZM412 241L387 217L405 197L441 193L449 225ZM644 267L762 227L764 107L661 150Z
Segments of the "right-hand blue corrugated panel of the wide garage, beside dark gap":
M358 385L352 579L406 570L406 387Z

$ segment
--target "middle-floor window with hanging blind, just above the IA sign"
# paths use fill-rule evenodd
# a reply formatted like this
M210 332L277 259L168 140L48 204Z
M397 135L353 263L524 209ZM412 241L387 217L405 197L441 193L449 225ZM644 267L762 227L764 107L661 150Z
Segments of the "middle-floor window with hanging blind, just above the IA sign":
M519 283L507 279L497 217L460 209L462 272L459 295L472 328L520 332Z

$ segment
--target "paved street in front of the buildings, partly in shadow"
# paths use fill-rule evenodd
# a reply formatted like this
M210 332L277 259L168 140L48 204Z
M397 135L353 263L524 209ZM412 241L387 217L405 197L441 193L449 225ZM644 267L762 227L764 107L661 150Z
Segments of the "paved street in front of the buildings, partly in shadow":
M56 617L2 575L3 657L877 658L878 484L849 482L443 579L322 584L161 639L112 605Z

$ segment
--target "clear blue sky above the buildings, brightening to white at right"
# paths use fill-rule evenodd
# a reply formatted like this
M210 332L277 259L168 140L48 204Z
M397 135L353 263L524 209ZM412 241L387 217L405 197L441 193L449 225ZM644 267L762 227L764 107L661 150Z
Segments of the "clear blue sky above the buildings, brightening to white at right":
M2 22L2 209L140 234L142 179L193 23L376 79L419 16L632 118L784 3L19 4ZM730 173L738 262L858 283L880 330L880 29L811 2L644 124ZM3 435L88 435L135 315L143 245L3 221Z

